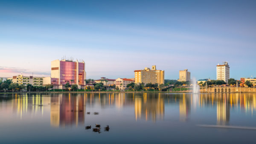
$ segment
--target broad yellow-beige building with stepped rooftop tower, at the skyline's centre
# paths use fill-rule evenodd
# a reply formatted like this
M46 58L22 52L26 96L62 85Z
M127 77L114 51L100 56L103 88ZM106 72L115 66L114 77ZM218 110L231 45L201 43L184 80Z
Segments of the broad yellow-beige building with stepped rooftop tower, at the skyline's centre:
M145 67L143 70L135 70L134 75L136 84L164 84L164 70L157 70L155 65L152 69Z

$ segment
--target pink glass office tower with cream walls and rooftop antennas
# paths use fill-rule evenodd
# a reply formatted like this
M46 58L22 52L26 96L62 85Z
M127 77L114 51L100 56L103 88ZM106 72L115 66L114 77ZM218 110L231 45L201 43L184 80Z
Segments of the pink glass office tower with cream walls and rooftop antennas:
M53 60L51 62L51 84L58 85L63 89L64 85L77 84L80 88L86 85L86 72L84 61L78 62L72 60Z

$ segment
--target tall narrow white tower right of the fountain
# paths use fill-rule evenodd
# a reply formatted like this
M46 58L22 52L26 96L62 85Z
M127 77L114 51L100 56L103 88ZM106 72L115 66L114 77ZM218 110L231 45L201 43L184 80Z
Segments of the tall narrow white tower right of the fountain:
M217 66L217 80L223 80L227 83L230 78L230 67L227 61L223 62L223 65L218 64Z

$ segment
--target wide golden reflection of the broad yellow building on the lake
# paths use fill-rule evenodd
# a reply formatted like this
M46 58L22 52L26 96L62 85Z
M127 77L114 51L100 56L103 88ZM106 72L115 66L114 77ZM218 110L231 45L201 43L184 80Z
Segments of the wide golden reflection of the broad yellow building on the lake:
M164 118L164 98L159 94L153 94L148 98L148 93L143 93L143 97L134 98L135 118L146 121Z

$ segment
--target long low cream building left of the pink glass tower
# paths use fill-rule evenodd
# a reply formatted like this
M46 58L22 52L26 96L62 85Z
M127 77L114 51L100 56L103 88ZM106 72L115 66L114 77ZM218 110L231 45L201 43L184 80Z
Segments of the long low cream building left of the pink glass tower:
M17 84L23 84L25 86L27 86L28 84L31 84L33 86L41 86L43 85L43 78L44 77L17 75L12 77L12 82Z

